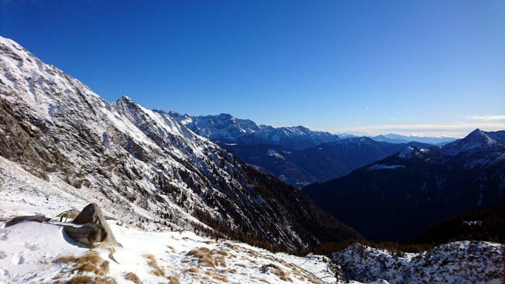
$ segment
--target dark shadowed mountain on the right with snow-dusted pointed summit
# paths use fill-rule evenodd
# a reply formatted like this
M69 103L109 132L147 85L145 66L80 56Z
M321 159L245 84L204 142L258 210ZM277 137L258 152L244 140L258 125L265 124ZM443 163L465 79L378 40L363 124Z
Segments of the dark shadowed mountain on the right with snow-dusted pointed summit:
M476 129L442 147L407 147L304 191L368 239L406 241L453 214L503 202L504 173L505 131Z

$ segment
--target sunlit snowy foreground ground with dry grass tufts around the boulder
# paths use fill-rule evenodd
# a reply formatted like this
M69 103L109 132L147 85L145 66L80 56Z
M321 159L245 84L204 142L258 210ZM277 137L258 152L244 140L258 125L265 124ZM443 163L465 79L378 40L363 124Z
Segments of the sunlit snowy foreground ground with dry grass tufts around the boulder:
M55 217L61 208L71 208L45 206L0 201L0 219L35 213ZM87 249L69 241L56 221L22 222L9 227L4 227L5 223L0 221L0 283L131 284L135 276L145 284L344 282L339 267L324 256L274 254L188 231L144 231L109 220L123 247ZM76 261L84 262L85 256L92 263L79 271ZM95 265L96 271L89 271Z

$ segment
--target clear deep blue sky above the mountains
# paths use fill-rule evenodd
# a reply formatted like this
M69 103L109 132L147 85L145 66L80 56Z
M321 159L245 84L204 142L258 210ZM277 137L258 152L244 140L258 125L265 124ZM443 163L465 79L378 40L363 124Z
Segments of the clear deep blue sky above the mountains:
M330 132L505 129L505 2L0 0L108 101Z

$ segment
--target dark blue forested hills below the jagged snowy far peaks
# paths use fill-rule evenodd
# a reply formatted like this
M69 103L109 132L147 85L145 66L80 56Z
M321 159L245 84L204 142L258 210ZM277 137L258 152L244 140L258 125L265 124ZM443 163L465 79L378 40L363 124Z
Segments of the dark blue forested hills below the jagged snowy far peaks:
M435 147L418 142L391 144L368 137L340 139L304 150L268 144L221 146L260 171L298 187L346 175L409 146Z

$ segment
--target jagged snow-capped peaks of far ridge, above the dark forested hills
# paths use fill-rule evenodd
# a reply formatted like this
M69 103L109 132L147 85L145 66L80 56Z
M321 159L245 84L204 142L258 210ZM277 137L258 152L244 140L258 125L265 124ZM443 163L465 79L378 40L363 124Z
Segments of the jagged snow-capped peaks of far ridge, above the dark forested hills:
M312 131L303 126L273 127L257 125L254 121L235 118L224 113L220 115L189 116L171 111L169 114L193 132L216 143L271 144L301 150L338 139L335 134Z

